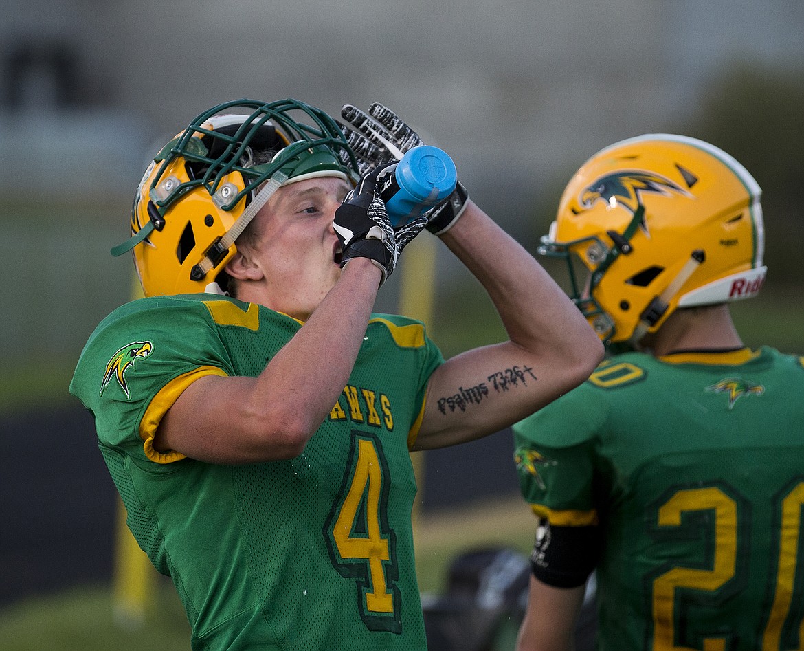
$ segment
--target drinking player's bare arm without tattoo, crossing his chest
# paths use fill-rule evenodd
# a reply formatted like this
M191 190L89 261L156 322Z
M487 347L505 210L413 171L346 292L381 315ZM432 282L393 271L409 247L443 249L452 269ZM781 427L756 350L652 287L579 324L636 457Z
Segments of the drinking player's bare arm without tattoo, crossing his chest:
M207 376L187 387L162 419L158 447L218 464L300 454L347 385L379 278L355 258L258 377Z

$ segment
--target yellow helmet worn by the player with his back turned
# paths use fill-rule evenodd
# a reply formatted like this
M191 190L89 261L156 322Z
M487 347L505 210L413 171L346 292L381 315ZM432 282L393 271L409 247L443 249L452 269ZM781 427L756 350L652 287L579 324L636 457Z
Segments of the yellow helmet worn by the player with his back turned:
M539 253L568 262L572 300L605 344L635 344L677 307L756 295L761 190L707 142L648 134L584 163Z

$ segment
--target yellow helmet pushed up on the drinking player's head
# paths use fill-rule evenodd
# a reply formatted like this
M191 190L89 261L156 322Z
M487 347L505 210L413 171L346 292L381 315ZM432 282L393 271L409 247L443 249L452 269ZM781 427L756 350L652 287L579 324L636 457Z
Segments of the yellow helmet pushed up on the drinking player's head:
M293 99L215 106L154 157L134 197L132 237L112 253L133 250L146 296L225 289L236 237L277 187L314 176L359 178L322 110Z

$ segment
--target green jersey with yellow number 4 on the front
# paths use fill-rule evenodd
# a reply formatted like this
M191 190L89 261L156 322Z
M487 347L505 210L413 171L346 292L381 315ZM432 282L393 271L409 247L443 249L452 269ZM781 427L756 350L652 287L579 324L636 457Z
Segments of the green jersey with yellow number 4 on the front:
M372 315L296 458L226 466L154 449L187 385L258 375L301 327L222 296L137 300L100 323L70 390L94 414L129 528L174 580L193 649L425 649L408 447L443 357L420 322Z

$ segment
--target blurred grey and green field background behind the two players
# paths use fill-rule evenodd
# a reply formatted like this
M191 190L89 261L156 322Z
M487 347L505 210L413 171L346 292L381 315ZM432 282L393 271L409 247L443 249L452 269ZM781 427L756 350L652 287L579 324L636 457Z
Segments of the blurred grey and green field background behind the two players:
M109 249L128 235L149 157L221 102L294 97L333 115L345 103L388 105L452 155L473 199L533 252L564 184L601 147L644 133L704 138L764 190L769 274L758 299L736 304L738 327L748 344L804 353L801 0L6 0L2 14L4 649L56 649L88 608L107 625L117 502L67 385L92 329L132 295L130 258ZM397 311L412 278L433 306L418 316L445 354L498 340L478 284L433 250L434 272L395 274L377 310ZM503 432L428 453L425 590L441 590L457 550L527 550L511 452ZM173 612L170 594L160 616ZM41 612L52 631L31 626ZM165 648L186 647L185 624L168 617L178 646ZM31 628L43 637L29 639ZM138 648L133 632L126 639Z

